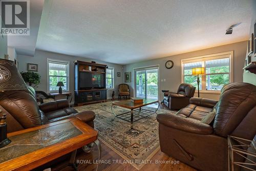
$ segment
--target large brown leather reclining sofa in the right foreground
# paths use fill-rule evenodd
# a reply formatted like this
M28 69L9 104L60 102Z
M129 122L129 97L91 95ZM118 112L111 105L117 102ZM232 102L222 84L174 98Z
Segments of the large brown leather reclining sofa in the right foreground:
M214 121L200 122L213 108ZM227 170L227 136L252 140L255 114L256 86L229 83L222 88L219 102L191 98L176 115L158 114L161 151L199 170ZM240 156L234 157L243 161Z

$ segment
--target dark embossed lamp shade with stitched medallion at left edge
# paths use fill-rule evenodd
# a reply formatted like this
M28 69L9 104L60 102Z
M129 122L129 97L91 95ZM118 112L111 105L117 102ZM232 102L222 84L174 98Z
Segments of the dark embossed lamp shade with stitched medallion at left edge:
M0 91L28 90L14 61L0 59Z

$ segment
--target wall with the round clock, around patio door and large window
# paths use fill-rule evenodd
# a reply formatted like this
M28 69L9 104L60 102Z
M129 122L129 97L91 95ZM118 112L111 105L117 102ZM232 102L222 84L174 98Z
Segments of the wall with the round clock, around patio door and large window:
M225 35L223 35L225 36ZM124 66L124 72L132 72L132 82L129 82L131 89L132 96L134 95L134 68L140 67L147 67L147 66L154 66L159 65L160 69L160 80L166 79L165 82L160 82L160 100L162 100L163 95L161 90L169 90L173 92L177 92L177 89L181 83L181 73L180 73L180 59L189 58L189 57L196 57L196 56L203 56L208 54L220 53L220 52L227 52L227 51L234 51L234 82L242 82L243 81L243 67L245 62L245 55L246 55L246 47L247 41L241 41L234 44L219 46L215 48L209 48L179 55L168 56L159 59L147 60L137 63L132 63L130 65ZM167 60L174 61L174 67L172 69L165 68L165 62ZM197 96L197 94L195 94ZM210 98L210 99L219 99L219 94L201 94L200 97L203 98Z

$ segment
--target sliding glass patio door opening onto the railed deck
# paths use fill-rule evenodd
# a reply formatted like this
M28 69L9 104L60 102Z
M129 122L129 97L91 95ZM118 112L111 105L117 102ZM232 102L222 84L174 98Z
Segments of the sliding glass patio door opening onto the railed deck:
M136 97L158 100L158 67L136 69Z

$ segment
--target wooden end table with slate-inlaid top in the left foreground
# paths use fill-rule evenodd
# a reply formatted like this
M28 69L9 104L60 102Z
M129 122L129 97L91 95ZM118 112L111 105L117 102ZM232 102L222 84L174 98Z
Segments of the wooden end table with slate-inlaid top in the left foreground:
M9 133L12 141L0 148L0 170L31 170L72 152L74 164L76 149L97 140L98 132L78 118L53 122L30 129Z

